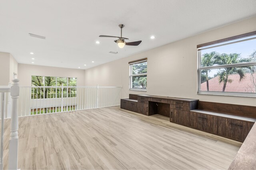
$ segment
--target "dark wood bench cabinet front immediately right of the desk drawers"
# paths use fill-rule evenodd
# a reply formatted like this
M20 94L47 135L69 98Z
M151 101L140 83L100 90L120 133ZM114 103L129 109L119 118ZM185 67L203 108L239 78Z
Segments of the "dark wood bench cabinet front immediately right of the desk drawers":
M190 125L209 133L218 133L217 116L190 111Z

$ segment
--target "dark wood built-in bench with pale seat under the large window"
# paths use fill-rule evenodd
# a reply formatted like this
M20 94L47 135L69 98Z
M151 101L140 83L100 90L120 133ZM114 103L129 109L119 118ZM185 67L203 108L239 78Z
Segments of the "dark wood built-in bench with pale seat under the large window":
M190 122L194 129L244 142L256 122L256 107L199 101Z

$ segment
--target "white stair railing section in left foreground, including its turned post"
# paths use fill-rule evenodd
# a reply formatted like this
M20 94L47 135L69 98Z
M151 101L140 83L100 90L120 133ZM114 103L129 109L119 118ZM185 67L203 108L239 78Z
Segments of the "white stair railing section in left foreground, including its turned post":
M1 92L1 141L0 141L0 169L3 169L3 141L4 141L4 118L10 116L10 140L9 140L9 167L8 169L18 169L18 98L19 98L19 80L14 78L13 84L10 86L0 86ZM10 95L9 95L10 93ZM8 96L7 115L5 111L6 96ZM11 96L12 101L9 99ZM10 108L12 106L12 108ZM8 115L9 114L9 115Z

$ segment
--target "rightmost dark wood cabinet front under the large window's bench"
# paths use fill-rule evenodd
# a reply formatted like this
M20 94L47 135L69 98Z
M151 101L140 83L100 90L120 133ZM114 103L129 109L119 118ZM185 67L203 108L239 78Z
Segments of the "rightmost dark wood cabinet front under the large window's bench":
M218 117L218 135L244 142L254 123Z

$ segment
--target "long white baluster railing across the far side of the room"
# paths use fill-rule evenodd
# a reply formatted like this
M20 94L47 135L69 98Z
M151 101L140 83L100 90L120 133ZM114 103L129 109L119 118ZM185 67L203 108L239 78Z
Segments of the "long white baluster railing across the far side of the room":
M122 87L21 86L19 117L98 107L119 106Z

